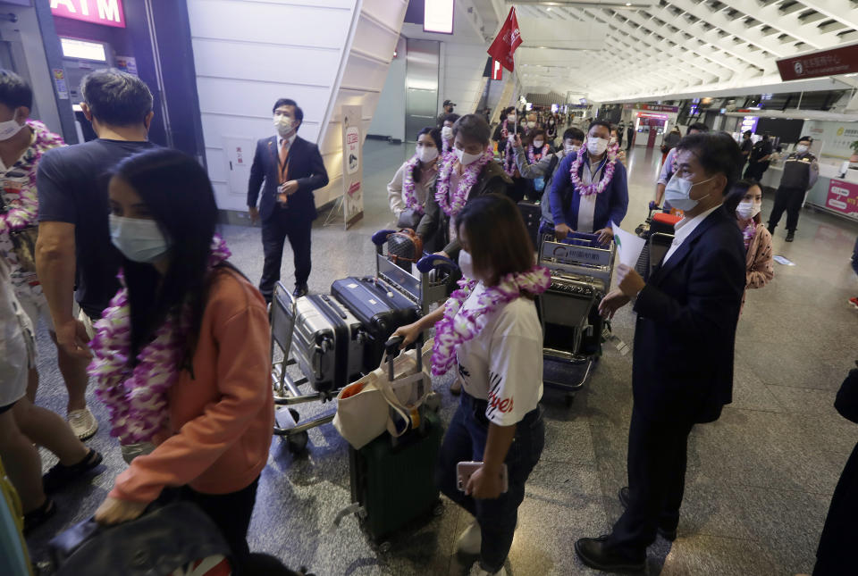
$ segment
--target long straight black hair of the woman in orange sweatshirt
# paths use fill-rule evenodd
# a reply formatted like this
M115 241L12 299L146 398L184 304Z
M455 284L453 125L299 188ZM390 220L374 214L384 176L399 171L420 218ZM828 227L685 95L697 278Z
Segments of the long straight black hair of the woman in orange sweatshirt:
M158 327L177 317L185 303L191 310L187 353L192 354L206 305L206 271L217 224L212 183L194 158L168 148L126 158L114 178L134 189L170 243L164 277L150 263L122 258L130 305L129 361L136 363Z

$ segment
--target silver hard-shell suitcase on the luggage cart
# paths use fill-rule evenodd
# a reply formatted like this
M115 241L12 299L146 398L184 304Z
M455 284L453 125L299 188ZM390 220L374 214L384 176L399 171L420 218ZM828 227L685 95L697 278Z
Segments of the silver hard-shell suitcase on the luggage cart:
M316 391L335 390L359 378L366 333L335 296L295 301L292 350L301 372Z

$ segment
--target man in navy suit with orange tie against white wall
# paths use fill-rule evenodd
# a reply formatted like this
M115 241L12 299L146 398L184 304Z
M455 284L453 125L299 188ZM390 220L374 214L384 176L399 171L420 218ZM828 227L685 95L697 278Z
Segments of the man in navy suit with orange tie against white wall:
M274 104L273 112L277 136L257 142L248 183L250 220L256 223L262 217L265 266L259 291L267 302L271 302L274 285L280 280L283 243L287 237L295 255L293 294L307 295L310 230L316 217L313 190L328 184L319 147L298 136L304 111L294 100L281 98ZM257 209L259 188L262 199Z

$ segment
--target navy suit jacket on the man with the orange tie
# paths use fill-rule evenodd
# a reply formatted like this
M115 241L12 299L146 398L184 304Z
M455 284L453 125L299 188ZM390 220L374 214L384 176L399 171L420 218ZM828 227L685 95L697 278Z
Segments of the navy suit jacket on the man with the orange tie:
M277 137L262 138L257 142L257 152L250 166L248 182L248 206L257 205L259 188L262 188L262 199L259 200L259 216L265 222L274 213L277 205L277 171L279 151ZM323 188L328 184L328 172L324 170L322 154L319 146L297 137L289 149L288 180L298 180L298 191L289 196L286 210L296 218L315 220L315 198L313 190ZM263 186L265 184L265 186Z

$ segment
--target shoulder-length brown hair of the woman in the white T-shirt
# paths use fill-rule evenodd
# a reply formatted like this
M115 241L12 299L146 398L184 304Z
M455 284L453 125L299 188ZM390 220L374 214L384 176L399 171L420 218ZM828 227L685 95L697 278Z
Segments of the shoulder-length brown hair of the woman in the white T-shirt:
M492 285L510 272L534 266L534 245L517 205L507 196L487 194L467 202L456 218L461 236L467 231L474 268L492 271Z

